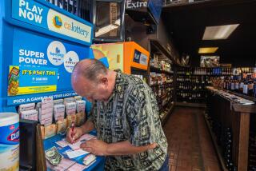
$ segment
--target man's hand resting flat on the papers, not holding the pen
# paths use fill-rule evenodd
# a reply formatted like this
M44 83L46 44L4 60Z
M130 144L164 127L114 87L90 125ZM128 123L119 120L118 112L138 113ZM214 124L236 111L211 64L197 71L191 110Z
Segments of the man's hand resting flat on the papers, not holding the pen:
M81 148L97 156L105 156L108 144L104 141L91 139L81 144Z

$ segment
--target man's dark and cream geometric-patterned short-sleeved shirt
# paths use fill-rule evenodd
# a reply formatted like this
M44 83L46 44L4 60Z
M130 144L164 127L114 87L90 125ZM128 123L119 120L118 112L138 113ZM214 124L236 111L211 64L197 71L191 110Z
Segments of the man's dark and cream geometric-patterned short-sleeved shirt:
M114 92L106 102L95 101L90 121L98 139L107 143L130 141L134 146L156 142L143 153L106 157L105 170L158 170L166 159L167 141L158 103L150 87L133 75L117 70Z

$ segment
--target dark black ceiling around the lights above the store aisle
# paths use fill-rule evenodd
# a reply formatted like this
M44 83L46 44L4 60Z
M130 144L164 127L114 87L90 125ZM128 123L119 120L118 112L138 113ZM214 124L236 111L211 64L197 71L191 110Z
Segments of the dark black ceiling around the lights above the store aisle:
M256 57L256 1L214 1L164 7L163 21L180 54L199 66L199 47L218 46L220 63L254 66ZM202 41L206 26L240 24L226 40Z

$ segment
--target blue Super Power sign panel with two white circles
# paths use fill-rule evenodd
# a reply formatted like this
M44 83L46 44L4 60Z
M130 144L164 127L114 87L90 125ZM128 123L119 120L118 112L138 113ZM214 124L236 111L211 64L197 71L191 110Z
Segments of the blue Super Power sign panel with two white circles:
M89 58L89 47L14 29L13 66L58 68L57 91L72 89L70 75L77 62Z

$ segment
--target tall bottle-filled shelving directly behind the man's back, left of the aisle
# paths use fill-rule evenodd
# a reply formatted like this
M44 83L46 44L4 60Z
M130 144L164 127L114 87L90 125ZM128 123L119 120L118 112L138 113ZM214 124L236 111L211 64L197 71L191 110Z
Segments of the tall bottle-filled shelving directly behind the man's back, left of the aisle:
M156 40L150 40L149 85L158 101L159 117L165 124L174 109L174 59Z

